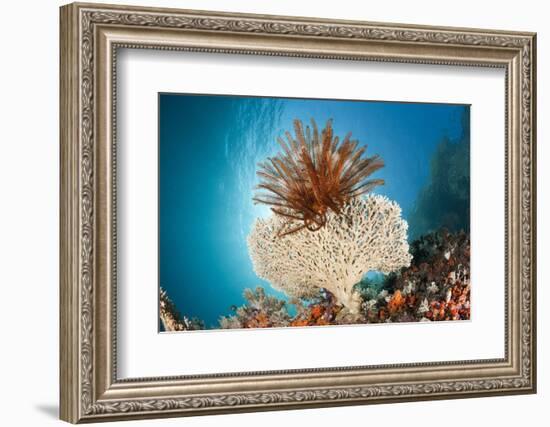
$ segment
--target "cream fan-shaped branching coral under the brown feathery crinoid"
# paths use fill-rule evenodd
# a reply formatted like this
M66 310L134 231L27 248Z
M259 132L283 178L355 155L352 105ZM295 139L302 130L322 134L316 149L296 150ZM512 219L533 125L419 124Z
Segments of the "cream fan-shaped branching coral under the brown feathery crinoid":
M323 288L355 313L361 300L354 286L365 273L389 273L411 260L401 208L383 196L351 199L340 214L329 212L317 232L280 237L285 221L279 215L256 220L248 246L256 274L293 297L309 298Z

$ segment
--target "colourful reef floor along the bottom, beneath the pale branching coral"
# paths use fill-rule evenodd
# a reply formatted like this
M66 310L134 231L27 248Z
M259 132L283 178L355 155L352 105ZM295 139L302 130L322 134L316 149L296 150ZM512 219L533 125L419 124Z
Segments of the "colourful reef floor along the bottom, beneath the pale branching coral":
M411 265L380 280L355 286L359 309L350 310L326 288L290 302L267 295L262 287L246 289L246 303L222 316L223 329L349 325L470 319L470 240L465 233L440 230L411 244ZM290 306L295 314L290 314ZM161 290L161 319L167 331L204 329L175 310Z

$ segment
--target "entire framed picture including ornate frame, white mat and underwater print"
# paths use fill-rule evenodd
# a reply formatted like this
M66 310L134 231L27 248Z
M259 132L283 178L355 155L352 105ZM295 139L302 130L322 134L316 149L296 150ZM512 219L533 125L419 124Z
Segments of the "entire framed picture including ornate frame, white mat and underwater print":
M536 391L535 34L60 22L63 420Z

